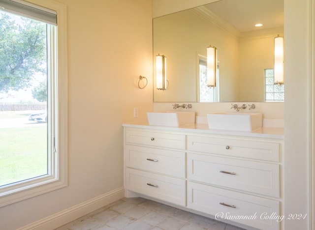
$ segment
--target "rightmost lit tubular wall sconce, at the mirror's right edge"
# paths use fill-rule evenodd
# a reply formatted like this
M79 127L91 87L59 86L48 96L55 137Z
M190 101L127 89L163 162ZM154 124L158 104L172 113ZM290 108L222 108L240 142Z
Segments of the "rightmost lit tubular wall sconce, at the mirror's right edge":
M274 77L275 85L284 84L284 37L279 34L275 37Z

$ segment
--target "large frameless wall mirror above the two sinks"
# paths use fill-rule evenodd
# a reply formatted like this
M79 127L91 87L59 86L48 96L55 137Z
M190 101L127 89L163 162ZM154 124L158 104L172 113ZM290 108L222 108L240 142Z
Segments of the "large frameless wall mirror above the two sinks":
M154 102L202 102L205 90L218 102L283 101L284 86L270 80L278 34L284 35L284 0L219 0L153 19L154 60L166 56L168 79L166 90L156 88L154 63ZM202 85L209 45L218 50L214 89Z

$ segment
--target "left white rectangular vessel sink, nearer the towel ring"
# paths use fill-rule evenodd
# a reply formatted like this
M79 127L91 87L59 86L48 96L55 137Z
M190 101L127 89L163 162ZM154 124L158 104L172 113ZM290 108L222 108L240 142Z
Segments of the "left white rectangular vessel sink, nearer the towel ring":
M149 125L179 127L195 123L195 112L147 113Z

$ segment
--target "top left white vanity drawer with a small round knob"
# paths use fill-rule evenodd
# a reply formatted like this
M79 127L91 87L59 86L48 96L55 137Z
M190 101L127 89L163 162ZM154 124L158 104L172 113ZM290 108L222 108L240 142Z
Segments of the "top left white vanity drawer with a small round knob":
M165 148L186 148L186 136L183 134L126 130L127 144L144 144Z

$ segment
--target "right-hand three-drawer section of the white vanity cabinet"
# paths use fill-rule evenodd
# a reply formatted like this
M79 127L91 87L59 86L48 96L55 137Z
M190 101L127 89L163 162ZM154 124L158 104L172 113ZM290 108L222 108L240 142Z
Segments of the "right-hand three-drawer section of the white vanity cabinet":
M272 216L280 214L281 151L281 142L270 139L187 135L187 206L280 229Z

